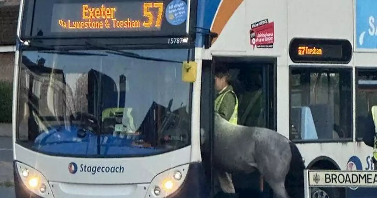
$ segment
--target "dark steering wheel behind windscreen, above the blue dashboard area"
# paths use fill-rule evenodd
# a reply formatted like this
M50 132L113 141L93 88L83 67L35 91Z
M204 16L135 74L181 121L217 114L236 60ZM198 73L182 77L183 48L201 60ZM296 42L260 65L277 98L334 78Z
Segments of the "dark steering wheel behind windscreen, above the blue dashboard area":
M72 120L80 121L80 129L77 131L78 137L85 137L88 130L95 133L100 131L100 123L95 115L87 112L75 112L72 117Z

